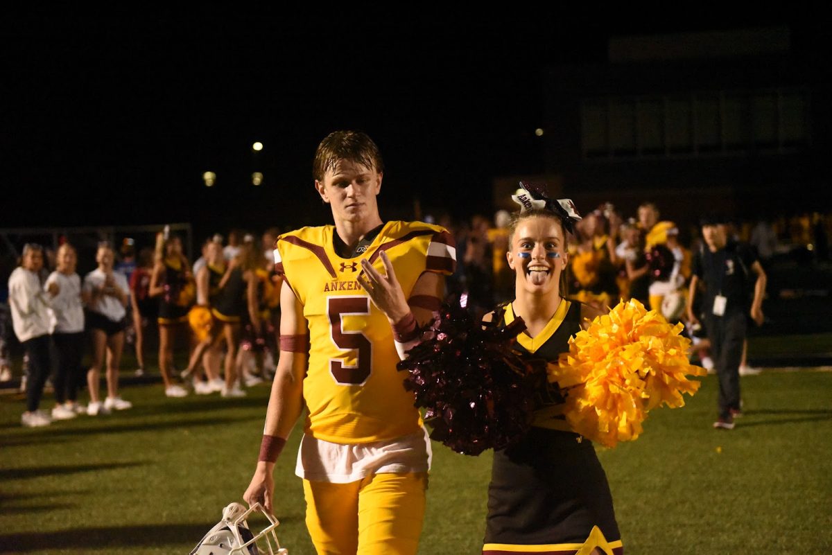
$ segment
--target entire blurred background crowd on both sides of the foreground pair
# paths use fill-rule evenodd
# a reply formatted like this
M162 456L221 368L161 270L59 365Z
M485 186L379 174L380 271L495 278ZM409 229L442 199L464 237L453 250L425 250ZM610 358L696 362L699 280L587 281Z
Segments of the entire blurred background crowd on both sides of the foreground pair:
M449 295L464 299L475 315L512 299L508 212L498 211L493 219L426 219L456 239L458 265L448 280ZM830 228L832 218L821 214L727 225L730 240L750 244L763 268L795 252L828 261ZM124 348L135 353L137 366L130 371L143 376L150 371L148 345L158 345L158 370L170 397L239 397L246 387L268 381L280 327L281 278L272 255L279 234L278 228L216 233L201 242L196 261L186 258L181 237L167 229L151 244L124 238L119 245L100 244L97 267L83 278L76 273L77 251L65 240L57 250L24 246L8 288L2 289L6 279L0 285L0 381L17 374L12 351L22 351L24 425L129 409L131 402L118 393ZM608 203L588 213L584 207L569 238L567 297L600 308L635 298L671 322L688 324L701 363L711 367L705 332L699 322L686 322L691 261L702 248L701 228L662 219L651 202L636 214L622 214ZM743 371L754 369L743 362ZM99 393L102 372L105 395ZM56 405L46 412L39 405L50 384ZM77 400L83 386L86 406Z

